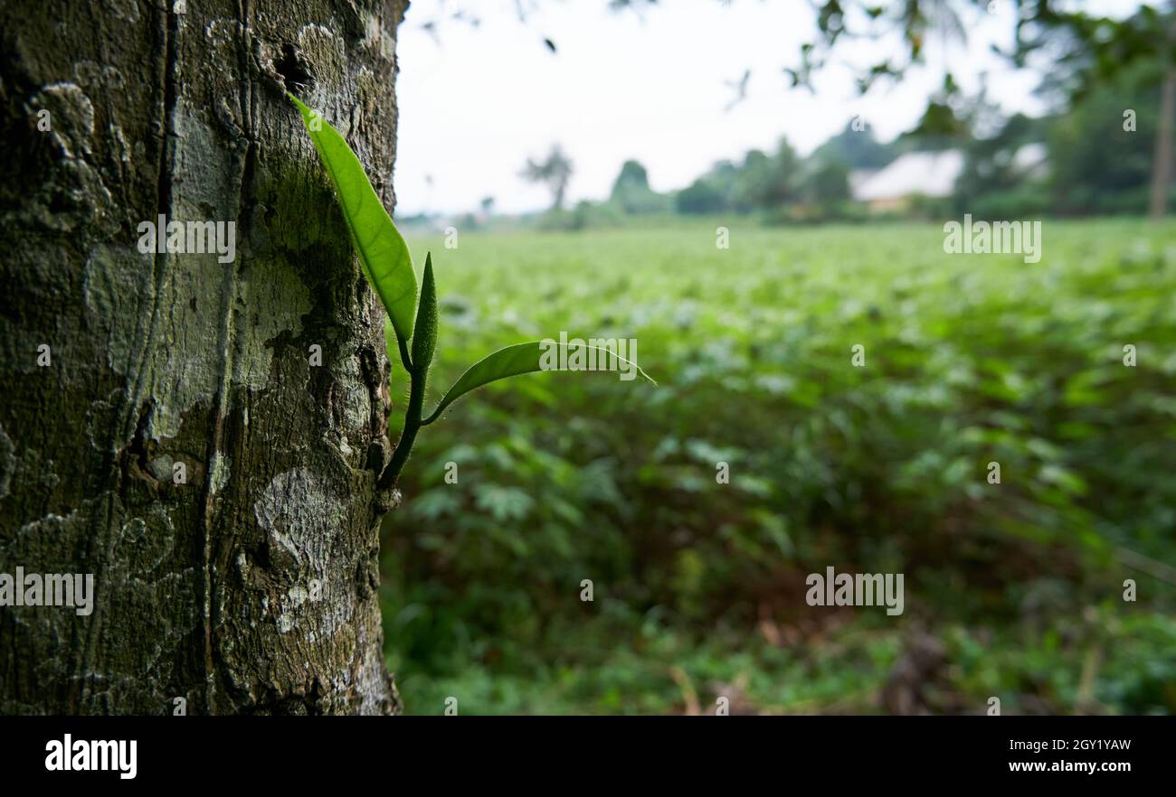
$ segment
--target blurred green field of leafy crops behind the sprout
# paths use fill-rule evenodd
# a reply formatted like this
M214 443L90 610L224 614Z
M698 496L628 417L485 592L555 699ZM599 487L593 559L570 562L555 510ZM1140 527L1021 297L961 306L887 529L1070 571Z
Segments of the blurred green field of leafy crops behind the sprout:
M530 375L422 431L382 548L406 710L1176 712L1176 226L1045 221L1027 264L717 223L409 241L430 404L561 330L660 387ZM904 572L904 614L808 607L827 565Z

